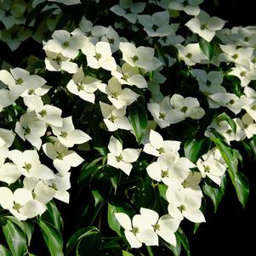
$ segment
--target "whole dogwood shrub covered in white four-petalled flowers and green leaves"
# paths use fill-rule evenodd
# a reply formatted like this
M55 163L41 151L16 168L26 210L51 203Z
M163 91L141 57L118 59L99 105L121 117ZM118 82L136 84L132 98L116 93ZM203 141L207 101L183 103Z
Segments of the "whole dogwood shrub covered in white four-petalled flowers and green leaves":
M1 255L40 253L35 236L58 256L190 255L183 223L208 221L227 183L246 206L256 28L202 2L0 2L11 50L43 43L2 60Z

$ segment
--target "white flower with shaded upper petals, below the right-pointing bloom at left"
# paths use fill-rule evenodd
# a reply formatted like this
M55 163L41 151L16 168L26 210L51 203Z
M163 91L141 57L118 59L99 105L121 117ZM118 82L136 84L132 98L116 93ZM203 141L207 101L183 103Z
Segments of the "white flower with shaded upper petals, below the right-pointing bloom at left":
M43 145L44 153L54 162L54 168L61 175L65 175L71 167L77 167L84 160L75 151L69 151L67 147L61 145L58 140Z

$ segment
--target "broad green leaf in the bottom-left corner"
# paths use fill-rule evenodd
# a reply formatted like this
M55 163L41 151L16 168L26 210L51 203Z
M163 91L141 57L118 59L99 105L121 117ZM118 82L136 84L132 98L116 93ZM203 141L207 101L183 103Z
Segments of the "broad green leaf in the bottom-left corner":
M5 219L2 222L2 229L13 256L23 255L26 252L26 236L20 227L10 219Z

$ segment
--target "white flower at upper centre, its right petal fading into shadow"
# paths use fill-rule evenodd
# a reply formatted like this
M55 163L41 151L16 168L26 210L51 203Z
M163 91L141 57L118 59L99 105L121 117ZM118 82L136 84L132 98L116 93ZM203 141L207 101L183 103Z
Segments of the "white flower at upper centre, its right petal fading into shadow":
M139 46L135 47L133 43L120 43L122 51L122 60L129 65L138 66L145 71L155 71L162 65L162 62L154 57L154 48Z

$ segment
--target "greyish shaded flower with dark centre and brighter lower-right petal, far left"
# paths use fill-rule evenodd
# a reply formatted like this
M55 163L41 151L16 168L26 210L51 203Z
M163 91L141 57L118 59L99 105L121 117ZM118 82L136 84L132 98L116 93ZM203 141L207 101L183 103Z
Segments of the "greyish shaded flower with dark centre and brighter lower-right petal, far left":
M28 140L37 150L42 145L42 137L46 132L45 122L38 120L36 111L30 111L20 117L20 122L16 122L15 133L21 139Z

